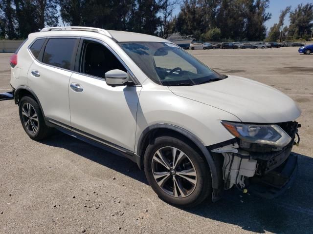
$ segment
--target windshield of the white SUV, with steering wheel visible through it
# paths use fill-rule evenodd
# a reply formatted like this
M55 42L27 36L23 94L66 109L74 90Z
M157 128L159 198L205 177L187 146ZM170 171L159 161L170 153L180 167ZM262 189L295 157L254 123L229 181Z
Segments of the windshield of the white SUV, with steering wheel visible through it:
M172 43L120 42L119 45L157 84L197 85L225 78Z

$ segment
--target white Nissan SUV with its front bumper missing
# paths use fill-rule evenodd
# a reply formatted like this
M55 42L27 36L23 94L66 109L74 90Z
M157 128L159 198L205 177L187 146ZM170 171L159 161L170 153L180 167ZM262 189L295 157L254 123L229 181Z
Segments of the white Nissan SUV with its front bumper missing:
M295 175L295 102L267 85L221 75L168 40L44 28L10 64L30 138L57 128L114 150L143 168L169 203L215 201L232 187L272 197Z

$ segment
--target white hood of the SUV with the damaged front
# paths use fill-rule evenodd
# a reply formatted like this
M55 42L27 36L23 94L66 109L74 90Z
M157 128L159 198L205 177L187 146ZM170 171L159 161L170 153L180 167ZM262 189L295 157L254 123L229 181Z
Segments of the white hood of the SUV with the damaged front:
M301 114L297 104L287 95L268 85L242 77L228 76L211 83L170 86L169 89L180 97L229 112L243 122L287 122Z

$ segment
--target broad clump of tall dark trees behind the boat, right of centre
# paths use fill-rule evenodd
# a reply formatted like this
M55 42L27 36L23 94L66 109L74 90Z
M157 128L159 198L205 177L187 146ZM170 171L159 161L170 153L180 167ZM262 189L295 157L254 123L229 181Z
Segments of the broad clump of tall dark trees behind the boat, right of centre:
M184 0L176 19L176 31L196 38L218 28L220 39L262 40L269 0Z

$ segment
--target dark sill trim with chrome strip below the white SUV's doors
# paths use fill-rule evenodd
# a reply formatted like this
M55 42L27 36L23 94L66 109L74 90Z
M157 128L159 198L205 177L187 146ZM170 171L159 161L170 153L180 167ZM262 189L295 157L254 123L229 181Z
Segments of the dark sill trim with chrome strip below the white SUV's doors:
M136 157L134 157L134 153L127 150L127 149L124 149L124 148L119 149L120 147L114 145L113 143L111 143L112 144L112 146L111 146L111 144L109 142L104 141L104 140L100 139L99 137L92 136L92 135L85 133L83 131L80 131L78 129L72 129L70 126L67 126L63 123L60 123L59 121L56 121L56 120L53 120L53 119L50 119L47 117L46 117L46 119L47 119L49 127L56 128L59 131L65 133L71 137L75 137L79 140L85 141L85 142L89 143L90 145L101 148L105 151L108 151L108 152L114 154L114 155L126 157L126 158L131 159L132 161L136 162Z

